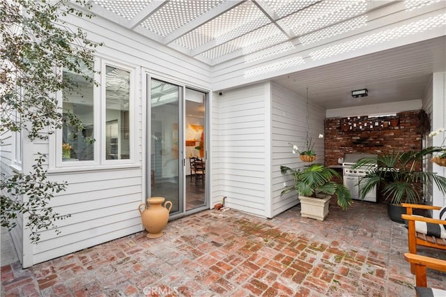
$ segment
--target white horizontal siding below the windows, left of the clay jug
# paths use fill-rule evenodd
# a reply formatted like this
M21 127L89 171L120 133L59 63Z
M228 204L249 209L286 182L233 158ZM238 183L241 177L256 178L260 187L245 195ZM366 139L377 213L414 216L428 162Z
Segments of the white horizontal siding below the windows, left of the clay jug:
M51 181L68 182L67 190L49 205L71 216L56 222L61 234L52 229L40 233L33 245L33 264L141 231L141 172L136 168L49 175Z

